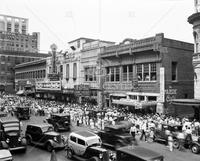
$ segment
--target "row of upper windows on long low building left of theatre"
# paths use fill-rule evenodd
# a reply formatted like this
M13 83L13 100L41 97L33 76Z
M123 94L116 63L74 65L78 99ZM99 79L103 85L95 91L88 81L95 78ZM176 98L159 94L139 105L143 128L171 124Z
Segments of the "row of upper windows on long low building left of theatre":
M30 79L30 78L45 78L45 76L46 76L45 70L38 70L38 71L17 73L15 75L15 78L16 79Z

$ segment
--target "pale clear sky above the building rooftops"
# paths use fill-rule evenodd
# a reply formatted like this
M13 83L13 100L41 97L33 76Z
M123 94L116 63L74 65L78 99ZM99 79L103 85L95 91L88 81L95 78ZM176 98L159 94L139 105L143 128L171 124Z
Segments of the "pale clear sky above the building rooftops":
M0 0L0 14L29 19L29 33L40 32L40 52L69 48L79 37L122 42L164 33L193 43L194 0Z

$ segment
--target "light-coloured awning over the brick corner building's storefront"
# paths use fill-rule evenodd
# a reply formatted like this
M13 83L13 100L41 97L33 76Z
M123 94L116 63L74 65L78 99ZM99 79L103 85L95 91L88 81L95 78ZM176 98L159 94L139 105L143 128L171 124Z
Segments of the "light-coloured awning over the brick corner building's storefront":
M120 99L120 100L113 100L113 104L125 105L125 106L135 106L135 109L141 109L147 106L155 106L157 105L157 101L135 101L135 100L128 100L128 99Z

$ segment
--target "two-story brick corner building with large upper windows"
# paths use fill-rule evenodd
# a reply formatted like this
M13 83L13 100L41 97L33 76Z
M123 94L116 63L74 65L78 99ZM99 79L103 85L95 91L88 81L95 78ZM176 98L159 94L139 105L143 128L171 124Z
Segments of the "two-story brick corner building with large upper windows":
M193 44L162 33L104 48L102 89L107 106L174 114L173 99L194 96L192 56Z

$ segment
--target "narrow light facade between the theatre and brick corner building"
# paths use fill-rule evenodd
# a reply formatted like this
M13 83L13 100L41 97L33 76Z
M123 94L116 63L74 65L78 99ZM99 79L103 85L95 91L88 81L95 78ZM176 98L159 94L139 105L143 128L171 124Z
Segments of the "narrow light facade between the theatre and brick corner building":
M85 92L81 94L82 101L99 104L101 102L100 90L100 53L102 48L114 45L114 42L94 40L84 43L81 50L81 84L85 87Z

